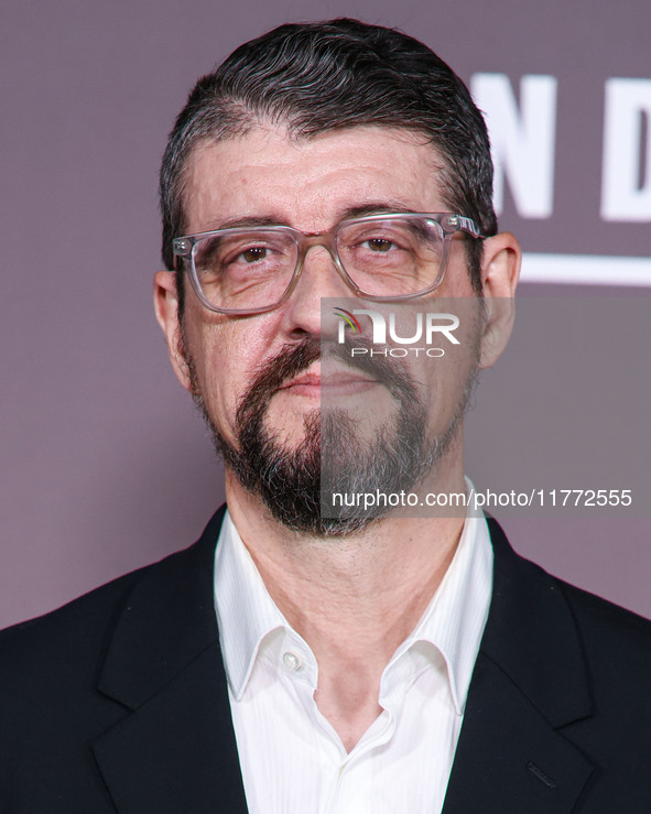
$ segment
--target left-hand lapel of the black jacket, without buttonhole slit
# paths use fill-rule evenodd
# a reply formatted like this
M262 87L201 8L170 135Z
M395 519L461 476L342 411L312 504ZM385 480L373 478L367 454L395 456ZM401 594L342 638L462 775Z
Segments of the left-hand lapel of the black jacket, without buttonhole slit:
M128 710L94 745L120 814L247 811L213 600L224 511L127 597L98 688Z

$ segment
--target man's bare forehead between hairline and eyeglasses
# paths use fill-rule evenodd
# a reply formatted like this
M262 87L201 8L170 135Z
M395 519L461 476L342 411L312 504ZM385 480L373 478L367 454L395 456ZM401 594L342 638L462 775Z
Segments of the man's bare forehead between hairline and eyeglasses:
M193 150L184 185L187 230L256 217L318 230L369 204L446 210L441 167L435 148L406 130L355 127L297 140L284 128L259 127Z

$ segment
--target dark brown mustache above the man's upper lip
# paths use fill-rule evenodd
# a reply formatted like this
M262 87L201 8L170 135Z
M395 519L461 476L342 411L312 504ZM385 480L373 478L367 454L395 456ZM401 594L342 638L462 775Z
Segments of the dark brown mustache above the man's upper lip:
M354 347L365 348L368 352L352 355ZM372 355L373 349L373 344L366 337L357 337L352 345L348 336L341 344L308 336L300 343L283 345L275 356L258 369L241 398L236 413L238 427L246 427L252 416L259 415L267 408L283 384L319 360L326 363L330 359L337 360L352 370L367 373L383 384L397 401L417 400L419 382L404 363L391 356Z

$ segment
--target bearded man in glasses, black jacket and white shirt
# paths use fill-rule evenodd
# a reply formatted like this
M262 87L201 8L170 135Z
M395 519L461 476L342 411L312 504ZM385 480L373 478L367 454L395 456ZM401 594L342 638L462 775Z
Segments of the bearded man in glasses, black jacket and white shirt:
M648 622L491 520L324 503L324 481L465 491L464 408L520 261L491 178L466 88L391 30L282 26L199 80L154 301L228 510L3 634L2 811L649 810ZM390 325L412 304L456 361L352 348L324 299Z

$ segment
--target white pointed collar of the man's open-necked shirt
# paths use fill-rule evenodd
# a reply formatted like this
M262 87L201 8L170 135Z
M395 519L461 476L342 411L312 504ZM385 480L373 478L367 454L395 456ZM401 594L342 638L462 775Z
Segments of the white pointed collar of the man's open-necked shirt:
M471 486L471 485L470 485ZM395 651L382 676L405 653L422 658L421 642L433 645L447 668L451 694L463 715L490 606L492 547L484 515L468 515L457 550L434 597L413 632ZM228 511L215 554L215 609L226 675L241 698L264 640L282 631L305 652L306 642L271 599Z

